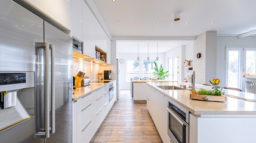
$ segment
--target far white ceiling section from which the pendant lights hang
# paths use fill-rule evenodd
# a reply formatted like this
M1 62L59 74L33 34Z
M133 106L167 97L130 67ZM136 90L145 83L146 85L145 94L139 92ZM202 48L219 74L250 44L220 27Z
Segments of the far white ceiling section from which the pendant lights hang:
M190 41L191 42L191 41ZM181 45L186 45L189 41L173 41L173 42L148 42L148 41L118 41L116 44L117 52L125 53L147 53L147 43L149 43L149 52L156 53L157 43L158 43L158 52L166 52L172 48L181 47Z

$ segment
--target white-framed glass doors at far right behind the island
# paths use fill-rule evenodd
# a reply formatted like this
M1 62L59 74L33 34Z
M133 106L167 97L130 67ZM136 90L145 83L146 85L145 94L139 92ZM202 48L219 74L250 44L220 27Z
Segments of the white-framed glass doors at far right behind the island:
M256 48L227 48L226 86L242 88L243 74L256 74Z

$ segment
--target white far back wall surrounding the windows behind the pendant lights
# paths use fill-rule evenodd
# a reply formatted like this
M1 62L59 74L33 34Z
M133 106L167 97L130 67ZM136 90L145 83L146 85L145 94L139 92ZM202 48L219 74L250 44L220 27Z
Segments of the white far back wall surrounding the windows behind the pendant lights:
M138 56L140 57L140 65L143 65L143 60L147 59L147 53L139 53ZM164 53L158 53L159 57L159 64L162 64L165 69L165 54ZM120 69L120 75L119 75L119 87L120 89L130 89L131 83L127 82L127 61L129 60L137 60L137 53L119 53L119 60L123 58L125 60L125 63L119 64ZM150 53L149 54L150 60L156 59L156 53ZM140 66L142 67L142 66ZM140 71L143 69L141 68ZM167 69L165 69L167 70ZM141 72L142 73L142 72ZM140 76L142 78L142 75Z

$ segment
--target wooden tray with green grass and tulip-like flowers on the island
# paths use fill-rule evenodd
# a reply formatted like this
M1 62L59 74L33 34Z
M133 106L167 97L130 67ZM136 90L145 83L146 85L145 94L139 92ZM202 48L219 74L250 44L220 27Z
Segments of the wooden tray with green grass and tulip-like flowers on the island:
M221 91L218 90L220 86L218 84L220 83L219 79L214 79L210 83L213 85L212 89L213 91L206 91L205 89L202 89L199 92L193 92L190 94L190 99L192 100L203 100L203 101L218 101L218 102L225 102L227 101L227 97L224 96Z

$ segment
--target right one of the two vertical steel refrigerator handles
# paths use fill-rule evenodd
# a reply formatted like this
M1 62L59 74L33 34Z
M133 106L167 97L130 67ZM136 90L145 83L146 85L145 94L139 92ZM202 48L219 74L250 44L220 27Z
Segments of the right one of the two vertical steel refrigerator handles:
M51 126L50 133L55 133L55 46L50 44L51 49Z

